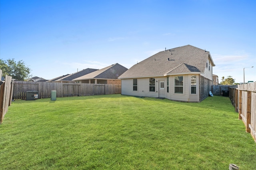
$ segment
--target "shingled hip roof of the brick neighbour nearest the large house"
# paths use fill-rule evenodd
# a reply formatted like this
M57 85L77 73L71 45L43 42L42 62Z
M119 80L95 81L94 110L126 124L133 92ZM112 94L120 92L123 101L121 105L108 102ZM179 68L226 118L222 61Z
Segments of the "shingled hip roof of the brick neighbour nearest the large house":
M103 69L100 69L92 73L78 77L76 79L73 79L73 81L86 80L86 79L118 79L118 77L127 70L128 69L126 67L116 63L108 67L105 67Z

